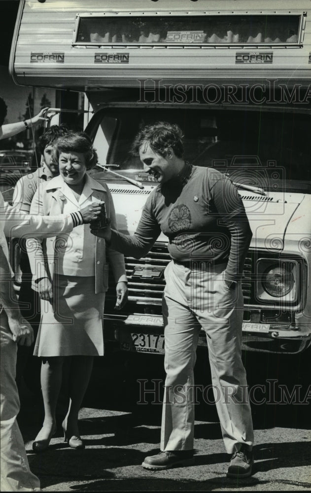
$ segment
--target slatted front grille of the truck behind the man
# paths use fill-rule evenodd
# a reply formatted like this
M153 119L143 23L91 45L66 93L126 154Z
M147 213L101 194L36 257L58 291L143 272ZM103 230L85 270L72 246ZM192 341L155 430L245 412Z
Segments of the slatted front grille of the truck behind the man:
M248 253L249 254L244 262L242 279L244 305L251 304L254 297L251 283L252 256L251 252ZM162 294L165 286L165 280L163 273L161 273L160 276L157 275L156 269L158 269L158 271L164 271L164 268L170 260L171 257L167 246L164 243L155 244L147 256L139 260L132 257L125 257L129 289L128 304L125 308L126 312L131 313L131 310L129 310L129 304L131 302L136 305L135 311L137 311L137 305L148 305L149 307L152 307L154 305L162 304ZM145 272L146 277L143 277L143 272ZM114 295L114 293L111 294ZM107 293L107 296L109 297L109 292Z

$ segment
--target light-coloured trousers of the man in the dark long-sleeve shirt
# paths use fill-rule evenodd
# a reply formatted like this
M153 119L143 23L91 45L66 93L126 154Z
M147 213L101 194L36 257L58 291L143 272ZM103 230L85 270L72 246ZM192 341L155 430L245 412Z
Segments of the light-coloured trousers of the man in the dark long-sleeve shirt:
M207 335L212 387L228 454L253 445L246 372L242 363L242 283L229 289L226 265L189 268L173 261L163 295L165 371L161 450L192 450L194 376L201 328Z

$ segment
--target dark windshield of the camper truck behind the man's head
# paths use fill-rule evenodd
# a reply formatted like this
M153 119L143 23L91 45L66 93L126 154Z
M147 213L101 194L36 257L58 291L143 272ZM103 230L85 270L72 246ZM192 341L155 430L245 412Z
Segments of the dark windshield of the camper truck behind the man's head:
M177 123L184 157L213 167L235 182L274 191L311 193L311 116L297 111L227 110L215 107L106 108L97 115L99 162L142 182L154 178L130 153L138 130L156 121ZM120 182L112 174L107 181Z

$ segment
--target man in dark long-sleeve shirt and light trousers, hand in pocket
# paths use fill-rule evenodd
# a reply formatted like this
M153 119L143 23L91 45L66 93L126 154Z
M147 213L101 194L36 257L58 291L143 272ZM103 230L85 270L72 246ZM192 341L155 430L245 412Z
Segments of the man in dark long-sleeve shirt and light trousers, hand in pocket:
M241 279L252 233L236 187L218 171L184 161L181 138L176 125L163 122L139 132L133 150L159 185L147 199L134 236L109 227L93 229L112 248L137 258L161 232L169 238L161 452L145 458L143 467L193 463L193 367L202 327L224 444L233 454L227 475L246 477L253 462L253 429L241 359Z

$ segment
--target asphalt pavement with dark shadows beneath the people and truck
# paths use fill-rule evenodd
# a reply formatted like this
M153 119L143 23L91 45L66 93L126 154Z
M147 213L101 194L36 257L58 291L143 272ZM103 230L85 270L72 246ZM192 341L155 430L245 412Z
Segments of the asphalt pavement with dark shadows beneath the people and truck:
M95 362L79 415L84 450L58 432L47 451L32 452L42 423L37 389L21 389L20 427L31 469L43 491L311 491L310 352L279 356L244 353L251 389L255 464L250 478L226 477L225 453L204 349L198 352L195 464L164 471L141 467L159 450L163 357L111 353ZM37 383L35 384L37 385ZM151 390L151 391L150 391ZM149 391L149 392L148 392Z

